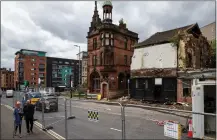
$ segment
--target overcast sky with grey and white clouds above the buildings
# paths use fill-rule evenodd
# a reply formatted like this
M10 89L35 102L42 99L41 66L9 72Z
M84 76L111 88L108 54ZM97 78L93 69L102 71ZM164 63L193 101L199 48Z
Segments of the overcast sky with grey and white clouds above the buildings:
M98 11L102 19L102 3ZM139 42L155 32L215 21L215 1L112 1L113 23L123 18ZM47 56L76 59L87 50L86 35L94 1L1 2L1 67L14 69L20 49L46 51Z

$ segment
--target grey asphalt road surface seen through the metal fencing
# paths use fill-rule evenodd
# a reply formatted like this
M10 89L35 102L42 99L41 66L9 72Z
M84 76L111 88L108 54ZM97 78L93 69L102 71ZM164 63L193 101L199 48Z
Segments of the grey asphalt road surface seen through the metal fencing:
M20 97L15 97L21 99ZM14 101L15 101L14 100ZM2 103L12 106L13 99L3 96ZM96 104L91 102L71 101L72 114L76 117L67 120L69 139L121 139L121 109L118 106ZM67 113L69 116L69 101ZM88 110L99 112L99 121L88 120ZM64 100L59 99L59 111L45 113L45 125L53 126L53 131L65 137ZM126 138L127 139L169 139L164 136L163 126L155 120L174 120L185 123L186 119L139 108L127 107L126 111ZM42 123L42 113L35 112L35 118Z

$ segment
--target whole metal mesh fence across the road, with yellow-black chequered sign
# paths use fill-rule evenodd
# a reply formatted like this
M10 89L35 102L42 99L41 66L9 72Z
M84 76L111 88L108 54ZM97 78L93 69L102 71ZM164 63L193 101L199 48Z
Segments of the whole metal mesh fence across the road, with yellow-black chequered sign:
M22 101L23 93L13 98ZM216 139L216 114L128 104L49 97L40 100L35 120L65 139ZM173 115L176 114L176 115Z

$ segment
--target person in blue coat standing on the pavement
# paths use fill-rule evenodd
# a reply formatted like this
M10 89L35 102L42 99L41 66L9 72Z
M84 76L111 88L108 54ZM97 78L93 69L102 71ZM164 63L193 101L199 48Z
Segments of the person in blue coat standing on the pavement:
M16 106L14 109L14 126L15 126L15 131L14 131L14 136L16 136L17 133L17 128L19 127L19 136L21 136L21 126L22 126L22 118L23 118L23 112L22 109L20 108L21 103L19 101L16 102Z

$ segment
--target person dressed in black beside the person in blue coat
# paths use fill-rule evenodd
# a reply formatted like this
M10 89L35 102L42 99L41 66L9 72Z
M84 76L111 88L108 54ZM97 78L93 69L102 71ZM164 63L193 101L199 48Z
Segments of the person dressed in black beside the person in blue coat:
M27 100L23 108L23 112L24 112L25 120L26 120L27 133L28 134L30 132L33 133L33 120L34 120L35 106L31 104L30 100Z

